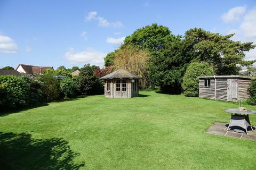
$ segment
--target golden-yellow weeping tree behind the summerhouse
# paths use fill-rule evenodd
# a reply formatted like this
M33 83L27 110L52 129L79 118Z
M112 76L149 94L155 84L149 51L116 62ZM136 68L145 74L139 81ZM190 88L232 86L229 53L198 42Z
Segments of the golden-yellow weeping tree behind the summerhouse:
M149 53L146 50L135 48L132 45L125 45L118 49L114 54L114 69L125 69L137 74L142 79L140 87L148 87L149 79L147 75Z

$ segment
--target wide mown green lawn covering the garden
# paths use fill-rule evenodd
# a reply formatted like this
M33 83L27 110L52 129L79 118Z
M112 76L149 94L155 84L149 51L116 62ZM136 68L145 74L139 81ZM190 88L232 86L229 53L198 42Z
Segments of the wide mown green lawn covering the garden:
M205 134L214 122L229 122L223 109L237 104L140 94L88 96L2 114L0 169L256 168L255 141Z

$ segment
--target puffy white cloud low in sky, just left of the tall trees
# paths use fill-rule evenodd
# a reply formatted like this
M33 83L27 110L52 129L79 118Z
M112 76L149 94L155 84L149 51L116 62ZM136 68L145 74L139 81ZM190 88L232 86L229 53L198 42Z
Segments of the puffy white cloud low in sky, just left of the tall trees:
M104 63L104 57L107 55L107 53L98 52L94 50L93 48L86 48L82 52L75 52L74 48L70 48L68 52L65 54L65 57L71 62L71 63L84 63L84 64L94 64L103 66Z

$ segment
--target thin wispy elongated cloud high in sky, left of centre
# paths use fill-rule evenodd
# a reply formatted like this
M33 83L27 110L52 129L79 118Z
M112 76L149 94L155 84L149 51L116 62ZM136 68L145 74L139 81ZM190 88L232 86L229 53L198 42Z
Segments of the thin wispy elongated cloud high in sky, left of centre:
M115 28L124 27L124 25L120 21L109 22L107 19L97 15L98 15L97 11L91 11L86 15L85 19L86 21L92 21L92 20L98 21L98 25L100 27L110 27L110 26Z

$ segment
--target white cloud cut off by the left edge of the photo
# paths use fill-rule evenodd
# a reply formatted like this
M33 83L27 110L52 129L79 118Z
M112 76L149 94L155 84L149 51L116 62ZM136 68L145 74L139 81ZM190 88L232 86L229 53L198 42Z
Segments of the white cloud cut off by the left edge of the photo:
M0 35L0 52L17 53L17 44L8 36Z

